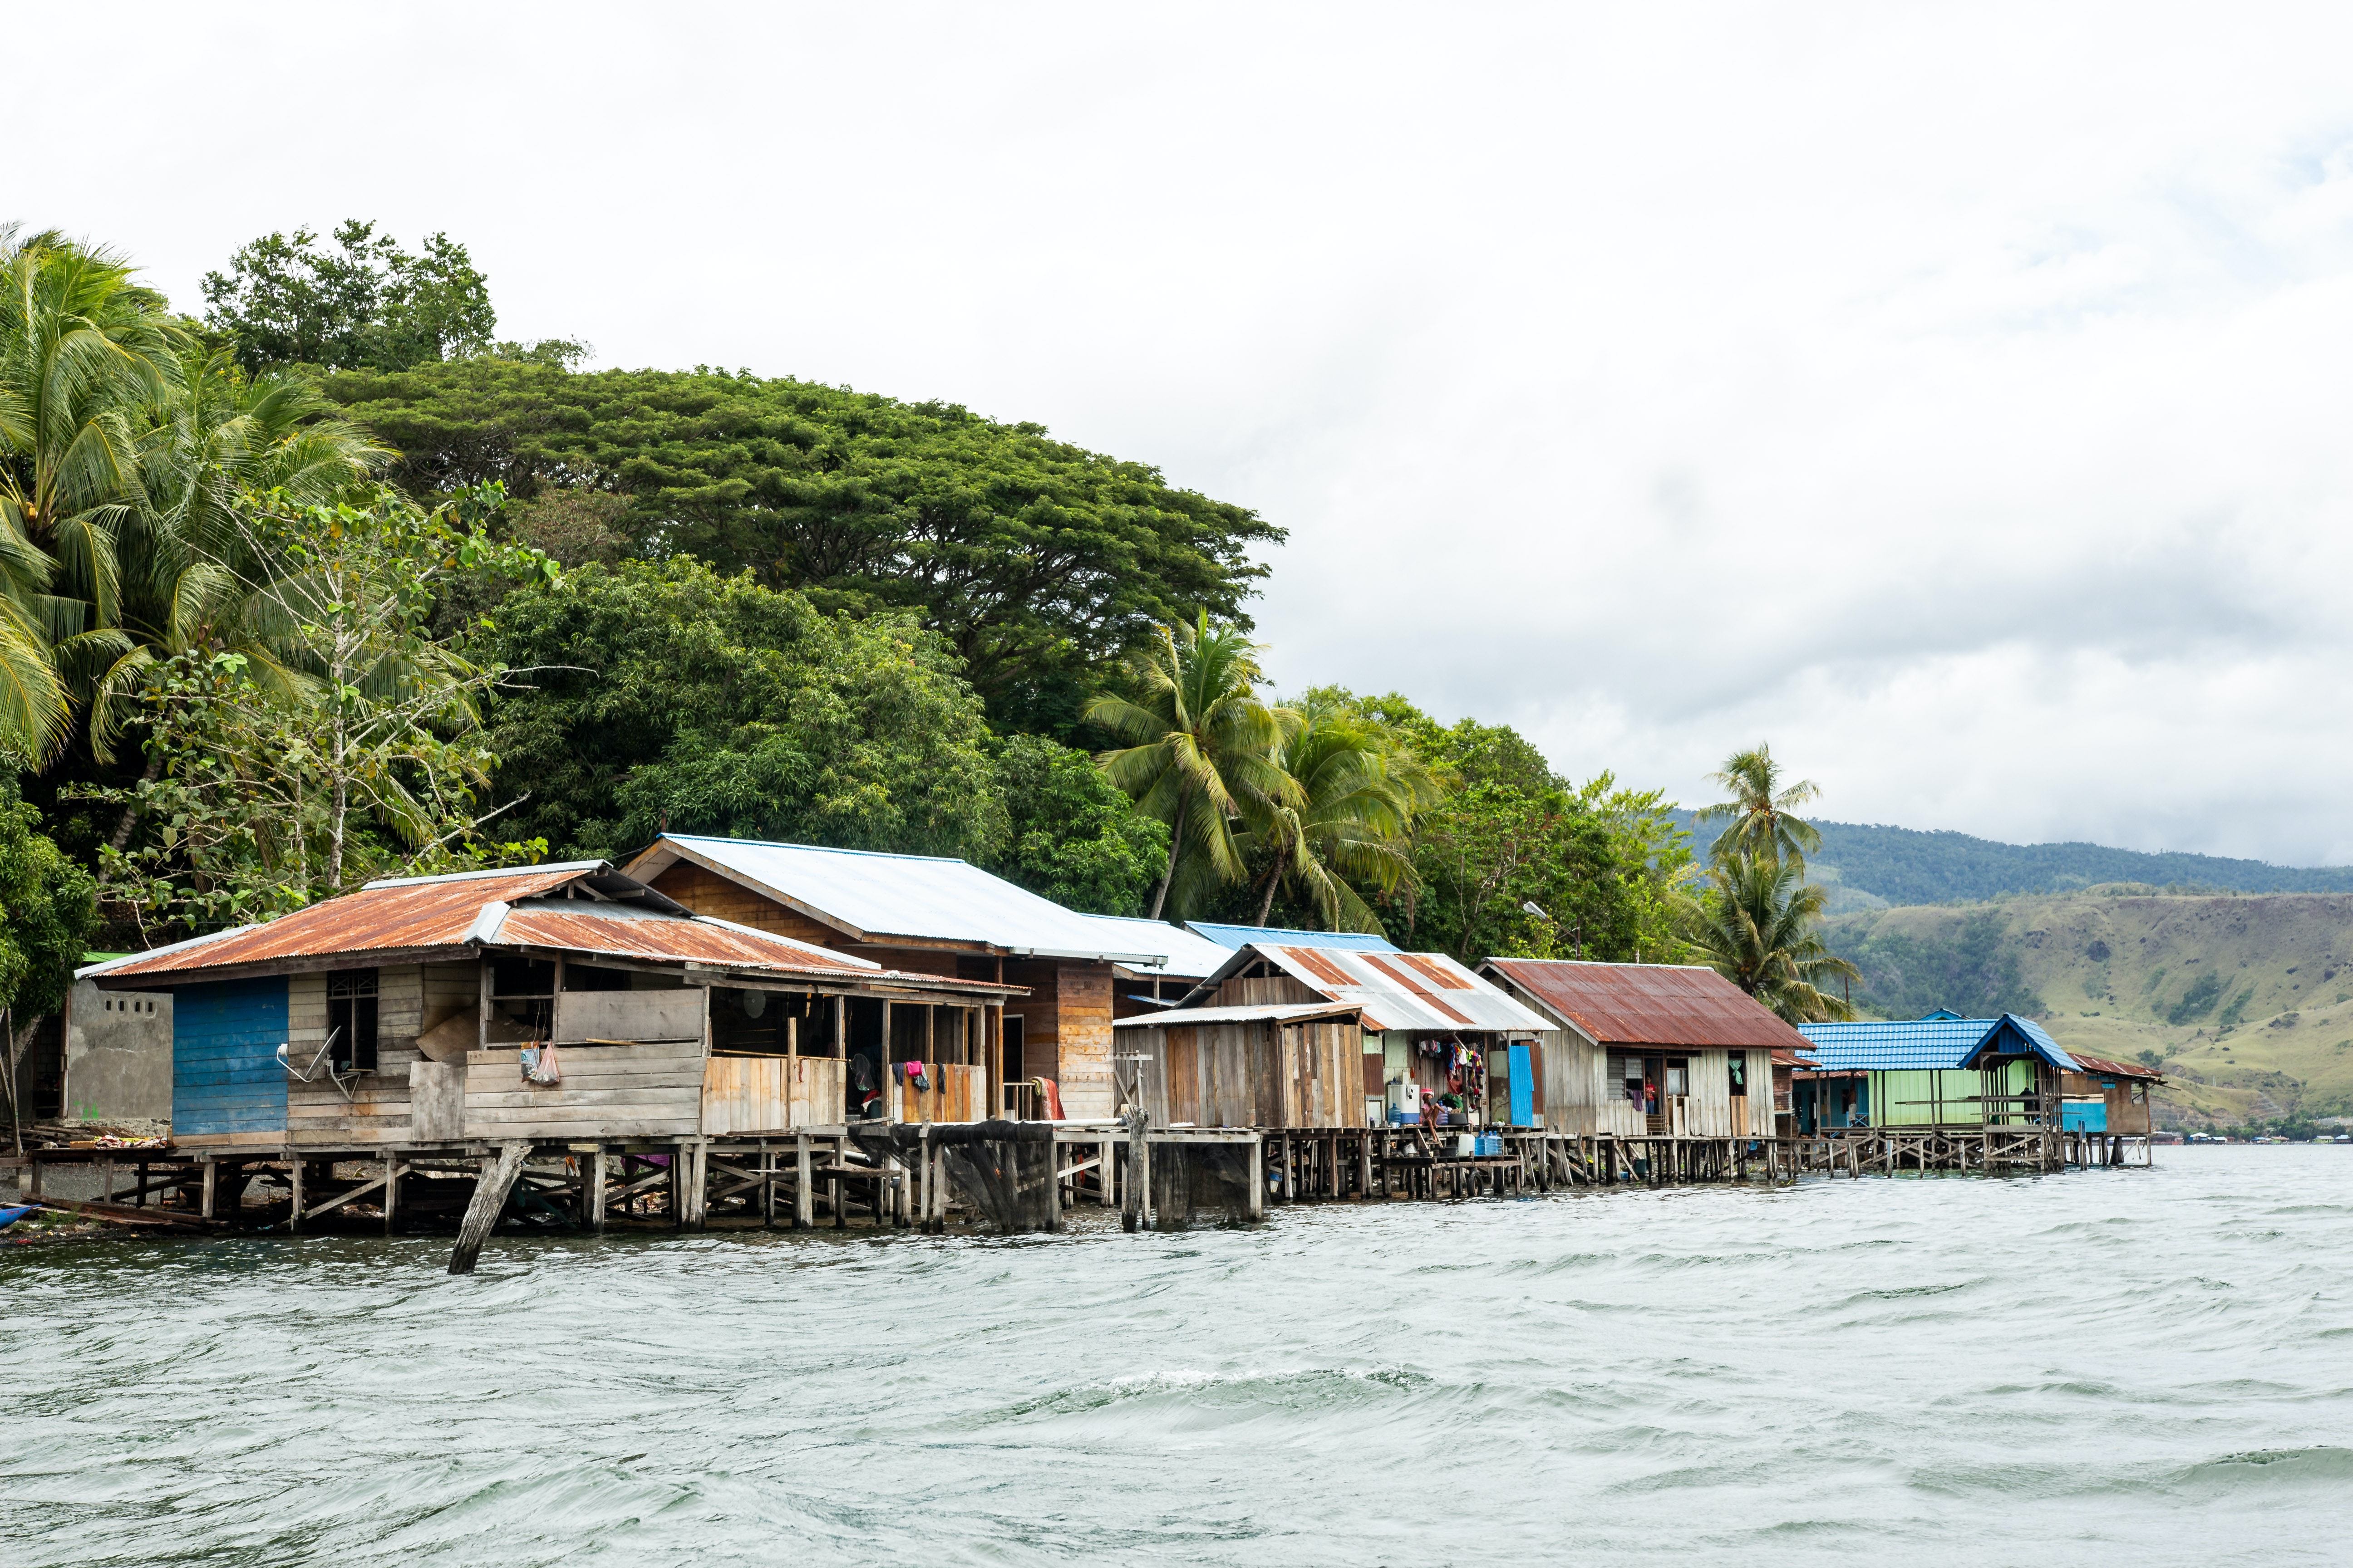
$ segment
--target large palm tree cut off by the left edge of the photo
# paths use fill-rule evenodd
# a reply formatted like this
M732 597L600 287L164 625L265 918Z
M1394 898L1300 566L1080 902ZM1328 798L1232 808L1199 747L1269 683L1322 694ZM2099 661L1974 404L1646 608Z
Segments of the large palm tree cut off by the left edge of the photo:
M113 252L0 228L0 745L68 736L68 679L125 646L115 538L139 503L136 414L186 339Z

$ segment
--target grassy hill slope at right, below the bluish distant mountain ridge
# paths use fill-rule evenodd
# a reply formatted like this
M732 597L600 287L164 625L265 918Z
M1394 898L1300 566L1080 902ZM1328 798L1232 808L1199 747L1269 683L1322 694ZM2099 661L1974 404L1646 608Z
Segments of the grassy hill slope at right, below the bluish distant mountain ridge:
M1857 1006L2024 1013L2092 1056L2153 1051L2169 1126L2353 1114L2353 898L2165 896L1892 907L1828 922Z

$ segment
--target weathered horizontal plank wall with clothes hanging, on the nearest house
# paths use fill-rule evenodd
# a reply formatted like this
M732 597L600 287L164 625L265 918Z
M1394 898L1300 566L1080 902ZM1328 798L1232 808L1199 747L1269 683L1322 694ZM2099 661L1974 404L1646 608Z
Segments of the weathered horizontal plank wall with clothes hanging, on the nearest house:
M680 1138L704 1131L701 1041L567 1046L562 1084L522 1079L518 1053L466 1053L468 1138ZM727 1058L784 1060L784 1058ZM814 1065L816 1058L802 1058Z

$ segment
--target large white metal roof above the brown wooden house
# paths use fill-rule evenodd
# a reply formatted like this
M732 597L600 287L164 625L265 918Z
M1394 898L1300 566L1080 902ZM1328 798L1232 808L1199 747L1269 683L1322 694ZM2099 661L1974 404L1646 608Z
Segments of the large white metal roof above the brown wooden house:
M852 940L915 936L1042 959L1108 959L1139 966L1158 966L1174 950L1174 943L1160 938L1139 943L1127 933L1129 926L1151 922L1120 922L1120 931L1111 931L1096 924L1094 914L1075 914L976 865L939 856L880 856L864 849L668 832L631 860L628 875L652 882L675 860L694 860L741 882L847 931Z

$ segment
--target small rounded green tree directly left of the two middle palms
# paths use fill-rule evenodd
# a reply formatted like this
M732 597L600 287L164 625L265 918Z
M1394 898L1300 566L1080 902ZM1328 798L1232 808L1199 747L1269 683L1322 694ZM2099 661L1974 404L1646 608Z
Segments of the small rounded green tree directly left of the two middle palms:
M1007 736L995 752L1005 844L986 867L1087 914L1141 914L1167 865L1169 830L1122 795L1087 752Z

